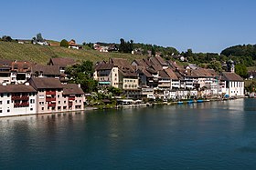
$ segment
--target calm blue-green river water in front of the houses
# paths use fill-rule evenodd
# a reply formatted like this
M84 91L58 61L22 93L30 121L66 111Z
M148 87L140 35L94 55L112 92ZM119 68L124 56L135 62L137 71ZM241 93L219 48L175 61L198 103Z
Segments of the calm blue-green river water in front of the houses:
M0 169L255 167L255 99L0 118Z

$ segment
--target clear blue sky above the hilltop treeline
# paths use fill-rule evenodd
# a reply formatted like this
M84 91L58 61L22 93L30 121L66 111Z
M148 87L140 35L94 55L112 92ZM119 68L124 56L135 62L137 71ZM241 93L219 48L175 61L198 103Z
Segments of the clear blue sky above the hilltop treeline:
M254 0L8 0L0 2L0 35L173 46L216 52L256 44Z

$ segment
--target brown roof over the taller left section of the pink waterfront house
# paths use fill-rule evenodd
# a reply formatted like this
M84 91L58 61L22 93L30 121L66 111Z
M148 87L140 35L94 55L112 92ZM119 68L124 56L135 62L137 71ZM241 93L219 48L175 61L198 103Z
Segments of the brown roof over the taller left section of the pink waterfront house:
M62 89L59 79L57 78L48 78L48 77L32 77L28 80L34 88L36 89L45 89L45 88L53 88L53 89Z

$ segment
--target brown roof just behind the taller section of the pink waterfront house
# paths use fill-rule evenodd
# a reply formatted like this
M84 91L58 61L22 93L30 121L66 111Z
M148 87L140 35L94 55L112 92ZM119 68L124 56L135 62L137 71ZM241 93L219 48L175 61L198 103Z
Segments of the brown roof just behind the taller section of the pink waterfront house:
M32 65L32 74L42 73L43 75L60 75L59 65Z

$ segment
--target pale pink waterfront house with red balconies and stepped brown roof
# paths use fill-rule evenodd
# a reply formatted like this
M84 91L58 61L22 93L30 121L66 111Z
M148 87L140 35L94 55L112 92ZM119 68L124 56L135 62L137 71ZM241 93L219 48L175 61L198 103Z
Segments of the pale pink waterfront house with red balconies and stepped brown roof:
M37 90L37 113L84 109L84 93L79 85L62 85L57 78L32 77L28 83Z

